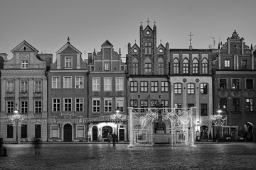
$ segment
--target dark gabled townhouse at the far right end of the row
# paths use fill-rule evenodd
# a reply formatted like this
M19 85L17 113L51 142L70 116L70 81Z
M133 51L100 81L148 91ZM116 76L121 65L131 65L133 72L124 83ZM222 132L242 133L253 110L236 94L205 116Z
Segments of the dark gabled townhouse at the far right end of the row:
M244 137L247 141L255 137L255 64L252 45L246 45L236 31L219 46L218 57L213 61L213 113L220 109L227 121L215 130L215 135L230 136L231 140Z

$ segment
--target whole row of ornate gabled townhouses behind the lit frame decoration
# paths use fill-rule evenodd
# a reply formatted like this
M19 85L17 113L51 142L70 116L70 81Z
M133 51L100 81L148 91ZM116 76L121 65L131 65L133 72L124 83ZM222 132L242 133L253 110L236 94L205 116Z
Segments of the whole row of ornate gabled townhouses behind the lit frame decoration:
M127 48L125 63L109 40L86 60L69 39L54 57L25 40L11 59L1 53L0 138L104 141L110 131L128 141L127 120L111 115L159 104L196 107L196 140L215 140L218 132L255 140L256 60L236 31L218 49L172 49L156 42L156 25L141 25L139 44ZM225 118L218 129L211 119L217 114Z

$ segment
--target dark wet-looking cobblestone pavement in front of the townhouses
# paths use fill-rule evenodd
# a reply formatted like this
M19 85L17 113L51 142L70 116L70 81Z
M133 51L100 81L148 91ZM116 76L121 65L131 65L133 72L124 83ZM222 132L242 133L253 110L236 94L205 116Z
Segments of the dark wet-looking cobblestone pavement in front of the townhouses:
M0 169L256 169L256 143L211 143L194 147L116 147L105 144L6 144Z

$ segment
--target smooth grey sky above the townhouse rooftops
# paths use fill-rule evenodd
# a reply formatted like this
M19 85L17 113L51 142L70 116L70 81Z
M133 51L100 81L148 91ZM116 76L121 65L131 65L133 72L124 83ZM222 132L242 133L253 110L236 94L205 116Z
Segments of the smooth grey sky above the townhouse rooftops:
M157 46L169 42L170 48L188 48L188 34L193 34L193 48L218 47L234 30L246 45L256 44L255 0L1 0L0 53L7 53L26 40L40 53L55 56L70 43L82 57L100 51L105 40L122 57L127 44L137 41L139 26L154 26Z

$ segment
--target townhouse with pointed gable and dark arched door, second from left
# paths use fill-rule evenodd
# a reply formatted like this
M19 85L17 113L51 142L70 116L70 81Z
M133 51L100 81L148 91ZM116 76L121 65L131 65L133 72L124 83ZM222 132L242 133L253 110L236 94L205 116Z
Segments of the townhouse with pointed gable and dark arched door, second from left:
M87 63L68 42L48 72L48 141L87 140Z

